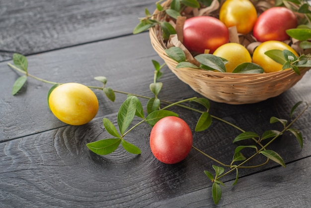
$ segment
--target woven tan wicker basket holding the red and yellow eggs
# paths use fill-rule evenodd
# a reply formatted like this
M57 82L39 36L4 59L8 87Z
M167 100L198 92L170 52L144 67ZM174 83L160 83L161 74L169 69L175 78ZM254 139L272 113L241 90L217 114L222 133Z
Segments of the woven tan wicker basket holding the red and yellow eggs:
M170 2L171 0L167 0L162 6L169 6ZM161 16L156 15L155 18ZM176 69L178 63L166 55L166 44L161 37L160 27L150 28L152 46L168 68L194 91L216 102L247 104L278 96L295 85L309 70L301 69L301 75L297 75L293 70L247 74L192 68Z

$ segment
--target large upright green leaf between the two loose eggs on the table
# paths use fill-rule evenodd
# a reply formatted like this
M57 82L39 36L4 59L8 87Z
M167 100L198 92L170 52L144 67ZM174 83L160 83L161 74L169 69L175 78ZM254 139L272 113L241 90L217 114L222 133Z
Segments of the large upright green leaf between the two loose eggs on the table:
M125 133L132 123L136 113L136 100L133 96L128 97L120 106L117 120L121 135Z

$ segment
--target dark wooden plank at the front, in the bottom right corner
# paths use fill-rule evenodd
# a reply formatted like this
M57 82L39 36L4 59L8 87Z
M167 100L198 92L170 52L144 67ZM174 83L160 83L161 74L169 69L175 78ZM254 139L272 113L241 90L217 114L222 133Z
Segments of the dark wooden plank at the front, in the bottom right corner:
M156 202L151 207L308 208L311 207L310 163L308 157L289 164L286 169L278 167L243 177L235 186L233 181L227 182L218 206L213 204L208 188Z

